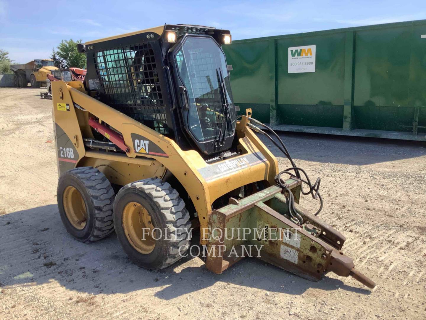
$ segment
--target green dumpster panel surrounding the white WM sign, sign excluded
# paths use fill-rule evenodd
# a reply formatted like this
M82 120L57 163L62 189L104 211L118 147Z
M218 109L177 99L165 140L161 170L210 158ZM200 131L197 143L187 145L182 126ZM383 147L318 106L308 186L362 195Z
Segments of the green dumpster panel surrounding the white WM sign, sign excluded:
M315 44L314 73L288 73L288 48ZM277 40L276 123L342 128L345 33Z

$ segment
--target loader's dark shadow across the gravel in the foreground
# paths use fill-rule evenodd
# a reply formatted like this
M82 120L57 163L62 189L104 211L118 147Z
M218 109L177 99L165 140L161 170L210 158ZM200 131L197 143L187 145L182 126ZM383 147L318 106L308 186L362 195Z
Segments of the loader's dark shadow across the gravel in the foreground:
M244 259L221 275L208 271L199 258L183 258L161 271L147 271L127 258L115 234L91 244L73 239L60 221L56 204L1 215L0 256L0 286L6 288L51 281L89 294L161 287L155 296L164 300L211 287L216 282L222 282L220 288L234 284L294 295L303 294L308 288L331 291L337 287L370 293L327 276L311 282L255 258Z

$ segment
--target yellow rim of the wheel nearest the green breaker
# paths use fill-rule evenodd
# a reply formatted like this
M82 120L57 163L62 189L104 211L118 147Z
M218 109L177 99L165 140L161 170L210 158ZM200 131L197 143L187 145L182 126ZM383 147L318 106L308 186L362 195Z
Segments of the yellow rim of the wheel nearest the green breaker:
M155 247L155 230L147 209L137 202L129 202L123 210L123 228L132 247L143 254ZM154 236L154 237L153 237Z

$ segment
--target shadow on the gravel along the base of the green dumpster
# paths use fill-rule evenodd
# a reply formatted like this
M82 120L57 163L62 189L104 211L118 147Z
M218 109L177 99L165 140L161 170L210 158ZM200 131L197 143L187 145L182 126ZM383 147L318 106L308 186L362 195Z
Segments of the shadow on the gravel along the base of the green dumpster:
M364 166L426 155L426 143L327 134L278 132L291 157L321 163L342 163ZM269 140L262 141L277 157L283 156ZM345 150L345 152L342 152ZM296 163L297 164L297 163Z

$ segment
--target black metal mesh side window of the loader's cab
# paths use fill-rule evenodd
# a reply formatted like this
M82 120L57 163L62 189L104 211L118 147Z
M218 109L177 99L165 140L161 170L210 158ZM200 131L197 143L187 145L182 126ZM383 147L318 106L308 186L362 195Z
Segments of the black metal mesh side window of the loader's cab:
M161 134L169 133L154 51L149 43L93 54L105 103Z

